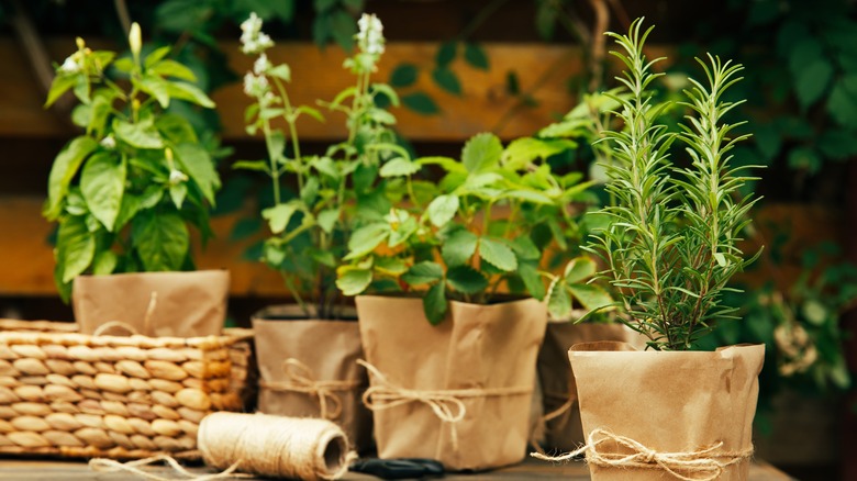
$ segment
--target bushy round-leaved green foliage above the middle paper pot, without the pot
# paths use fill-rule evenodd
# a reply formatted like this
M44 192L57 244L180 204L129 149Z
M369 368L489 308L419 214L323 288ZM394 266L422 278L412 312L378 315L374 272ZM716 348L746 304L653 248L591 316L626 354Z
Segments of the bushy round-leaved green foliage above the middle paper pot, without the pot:
M337 286L346 295L418 293L433 324L443 321L448 300L544 299L546 250L565 242L563 225L574 222L567 205L589 187L576 172L556 175L545 159L574 147L531 137L504 147L489 133L470 138L460 159L411 159L386 146L399 157L380 175L403 180L402 200L354 233ZM430 169L443 172L438 182L418 177Z

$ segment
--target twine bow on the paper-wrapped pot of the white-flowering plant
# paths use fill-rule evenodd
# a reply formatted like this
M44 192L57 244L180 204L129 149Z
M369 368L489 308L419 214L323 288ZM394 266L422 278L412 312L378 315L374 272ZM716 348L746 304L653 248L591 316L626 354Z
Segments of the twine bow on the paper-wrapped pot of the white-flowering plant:
M259 385L271 391L299 392L315 398L321 417L325 420L337 420L342 415L342 398L337 392L360 387L359 380L318 381L309 366L294 358L282 361L282 372L286 374L285 382L259 381Z

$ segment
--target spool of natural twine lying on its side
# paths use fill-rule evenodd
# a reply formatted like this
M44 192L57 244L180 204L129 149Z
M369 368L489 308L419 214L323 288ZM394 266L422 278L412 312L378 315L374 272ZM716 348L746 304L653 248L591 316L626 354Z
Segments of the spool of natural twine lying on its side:
M338 479L348 470L345 433L326 420L213 413L197 446L209 466L275 478Z

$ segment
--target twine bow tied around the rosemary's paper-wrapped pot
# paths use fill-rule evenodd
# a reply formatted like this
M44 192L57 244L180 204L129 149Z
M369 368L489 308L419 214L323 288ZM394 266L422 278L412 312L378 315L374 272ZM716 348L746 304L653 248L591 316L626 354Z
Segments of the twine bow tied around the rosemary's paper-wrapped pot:
M538 452L532 452L530 456L546 461L567 461L585 454L587 462L590 465L625 469L659 469L682 481L713 481L723 474L726 467L747 460L753 456L753 448L737 452L715 452L723 447L723 441L695 451L658 452L634 439L615 435L605 429L593 429L587 441L585 446L561 456L552 457ZM598 448L603 443L615 443L632 452L601 452Z

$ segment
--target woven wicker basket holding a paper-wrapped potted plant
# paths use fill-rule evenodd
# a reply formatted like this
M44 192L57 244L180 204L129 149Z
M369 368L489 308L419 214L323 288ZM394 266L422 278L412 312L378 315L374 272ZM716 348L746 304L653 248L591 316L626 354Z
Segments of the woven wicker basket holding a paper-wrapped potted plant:
M202 417L243 409L242 336L74 331L0 320L0 454L198 459Z

